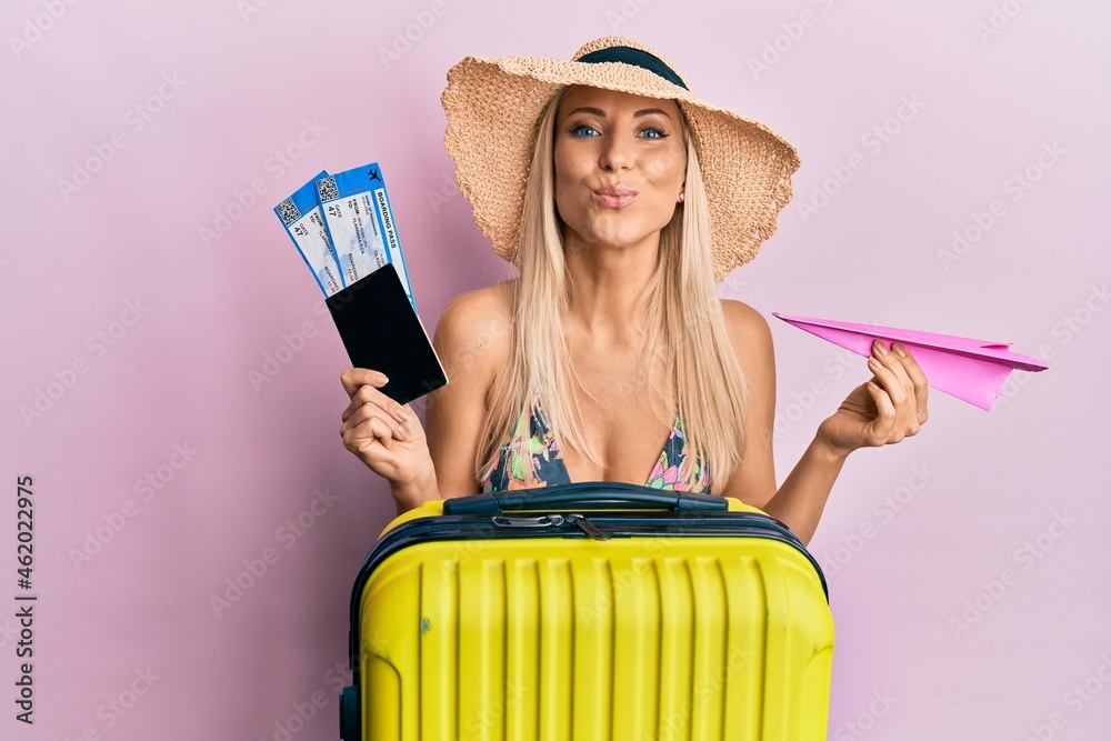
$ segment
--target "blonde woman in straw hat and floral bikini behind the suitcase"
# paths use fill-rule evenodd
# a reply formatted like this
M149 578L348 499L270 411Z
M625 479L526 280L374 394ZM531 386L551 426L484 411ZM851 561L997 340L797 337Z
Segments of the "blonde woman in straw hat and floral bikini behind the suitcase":
M655 51L608 37L570 62L467 58L443 106L460 189L520 278L444 310L434 344L450 383L429 397L427 432L380 373L343 372L343 443L390 481L399 512L623 481L737 497L809 542L849 453L925 422L921 369L877 343L872 379L777 489L771 332L714 282L775 230L799 160Z

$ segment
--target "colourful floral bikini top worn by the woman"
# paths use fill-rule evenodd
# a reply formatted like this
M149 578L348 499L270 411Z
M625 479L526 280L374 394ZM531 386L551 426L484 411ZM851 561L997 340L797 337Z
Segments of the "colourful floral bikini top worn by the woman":
M564 465L563 458L559 452L556 434L548 427L548 420L540 408L539 398L532 403L528 448L528 455L510 452L508 442L496 450L491 459L497 457L498 461L490 472L490 477L482 481L482 491L524 489L529 485L529 477L527 475L529 468L532 469L537 480L534 485L571 483L571 477L568 475L567 465ZM695 465L694 475L691 479L694 484L690 488L687 485L687 467L689 465ZM652 469L645 485L669 491L710 493L710 467L702 461L695 463L688 458L682 415L675 415L671 434L668 435L668 441L660 452L660 459L655 462L655 468Z

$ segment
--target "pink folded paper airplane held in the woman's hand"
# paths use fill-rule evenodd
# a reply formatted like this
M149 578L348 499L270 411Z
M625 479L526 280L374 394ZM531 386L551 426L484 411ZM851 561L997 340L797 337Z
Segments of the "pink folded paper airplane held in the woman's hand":
M1010 342L973 340L879 324L787 317L774 311L772 316L865 358L872 354L874 340L887 347L899 342L910 350L930 385L980 409L991 409L1013 369L1042 371L1049 368L1037 358L1011 352Z

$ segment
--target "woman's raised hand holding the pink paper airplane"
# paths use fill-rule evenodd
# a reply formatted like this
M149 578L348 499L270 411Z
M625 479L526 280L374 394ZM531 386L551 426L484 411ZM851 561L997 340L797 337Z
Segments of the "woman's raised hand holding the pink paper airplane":
M853 389L818 428L819 440L841 454L899 442L917 434L928 418L925 373L903 346L889 350L873 342L868 368L872 380Z

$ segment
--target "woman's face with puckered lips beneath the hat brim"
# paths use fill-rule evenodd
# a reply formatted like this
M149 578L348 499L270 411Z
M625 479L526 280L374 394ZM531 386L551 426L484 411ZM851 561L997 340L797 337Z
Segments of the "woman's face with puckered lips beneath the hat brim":
M572 88L556 116L556 208L568 237L628 247L671 221L687 172L673 100Z

